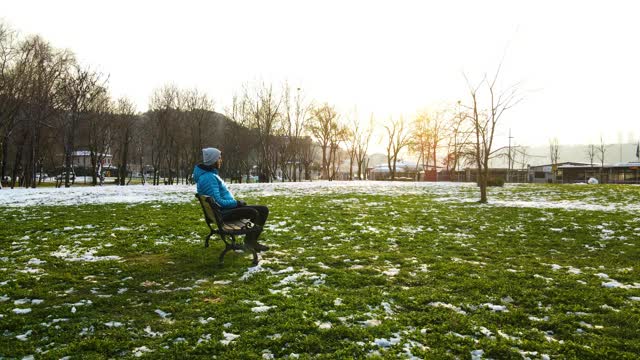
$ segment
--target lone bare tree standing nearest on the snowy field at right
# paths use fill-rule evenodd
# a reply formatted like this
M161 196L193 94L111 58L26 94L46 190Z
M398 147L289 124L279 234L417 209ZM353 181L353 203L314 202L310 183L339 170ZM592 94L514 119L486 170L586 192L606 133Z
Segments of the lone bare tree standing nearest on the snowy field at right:
M480 187L480 203L487 202L487 183L489 180L489 160L492 158L493 140L502 115L505 111L518 104L522 98L519 97L516 85L508 87L505 91L498 91L497 81L500 75L500 68L496 71L492 79L484 79L476 86L472 86L467 79L469 94L471 96L470 114L467 118L471 121L473 134L475 135L474 156L478 168L478 185ZM465 76L466 78L466 76ZM487 94L487 108L483 111L480 104L480 89L484 86Z

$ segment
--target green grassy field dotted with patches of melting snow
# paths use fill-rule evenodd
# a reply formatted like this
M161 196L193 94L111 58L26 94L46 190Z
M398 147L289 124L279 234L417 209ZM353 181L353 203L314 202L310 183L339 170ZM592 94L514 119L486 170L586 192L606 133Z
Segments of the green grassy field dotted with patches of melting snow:
M237 186L271 209L253 268L188 191L0 203L0 358L640 354L640 187L332 189Z

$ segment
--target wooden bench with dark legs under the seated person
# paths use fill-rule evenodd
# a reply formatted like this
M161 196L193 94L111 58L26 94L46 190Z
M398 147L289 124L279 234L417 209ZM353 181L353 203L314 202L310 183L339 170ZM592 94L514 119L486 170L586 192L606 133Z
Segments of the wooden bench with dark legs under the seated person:
M199 195L196 194L196 198L200 201L200 205L202 206L202 212L204 213L204 219L207 222L207 226L211 229L209 235L205 238L204 247L209 247L209 239L213 234L220 235L220 238L225 244L224 250L220 254L219 261L221 264L224 263L224 255L229 250L244 250L244 243L238 244L236 243L237 235L247 235L253 232L257 232L262 230L260 225L254 224L249 219L240 219L234 221L223 221L222 220L222 207L214 199L210 196ZM212 226L211 224L215 224ZM227 236L231 238L231 241L227 241ZM258 265L258 253L255 249L249 249L253 254L253 265Z

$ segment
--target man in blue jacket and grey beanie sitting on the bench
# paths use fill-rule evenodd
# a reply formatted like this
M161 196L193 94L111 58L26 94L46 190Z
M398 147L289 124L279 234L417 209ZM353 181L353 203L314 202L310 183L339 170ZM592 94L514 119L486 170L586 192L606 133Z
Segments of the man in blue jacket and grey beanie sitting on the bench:
M234 199L227 189L224 180L218 175L222 166L222 153L216 148L202 149L203 163L193 169L193 179L197 184L200 195L210 196L222 208L222 220L233 221L249 219L254 224L263 226L269 216L269 208L263 205L247 205L242 200ZM268 246L258 243L258 236L262 230L247 234L244 240L245 247L258 252L269 250Z

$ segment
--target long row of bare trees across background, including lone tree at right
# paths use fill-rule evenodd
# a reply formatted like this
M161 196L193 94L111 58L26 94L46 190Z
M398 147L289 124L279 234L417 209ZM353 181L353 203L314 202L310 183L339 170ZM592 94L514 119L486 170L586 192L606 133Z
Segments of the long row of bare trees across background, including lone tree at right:
M420 112L410 121L385 121L380 141L391 179L408 153L425 171L476 165L486 201L489 161L501 150L493 145L496 126L519 101L516 87L497 91L498 75L468 82L469 101ZM83 149L90 152L93 184L108 153L120 185L133 167L143 181L148 171L153 184L186 182L207 146L223 149L223 175L238 181L252 175L299 181L314 168L333 180L344 172L341 166L348 166L349 179L366 177L373 115L360 121L356 111L341 115L328 103L307 100L299 88L264 83L244 85L226 115L213 111L206 94L168 84L152 92L148 111L139 114L128 99L112 99L107 82L70 51L39 36L22 39L0 24L1 178L8 174L12 187L16 181L35 187L43 170L61 168L68 187L73 153Z

